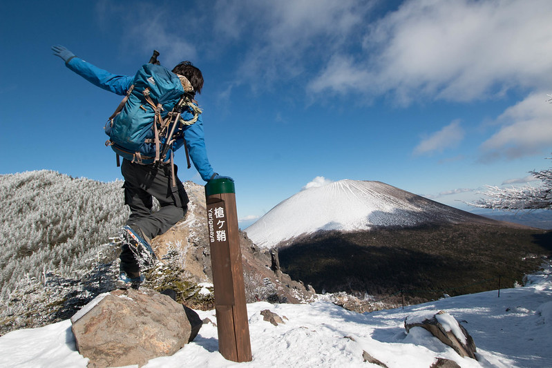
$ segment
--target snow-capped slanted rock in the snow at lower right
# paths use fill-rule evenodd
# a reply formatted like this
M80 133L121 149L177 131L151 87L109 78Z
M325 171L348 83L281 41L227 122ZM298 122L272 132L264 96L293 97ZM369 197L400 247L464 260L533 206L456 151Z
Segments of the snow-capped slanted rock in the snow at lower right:
M406 332L412 327L422 327L441 342L452 347L460 356L476 359L473 338L453 316L444 311L408 316L404 321L404 327Z

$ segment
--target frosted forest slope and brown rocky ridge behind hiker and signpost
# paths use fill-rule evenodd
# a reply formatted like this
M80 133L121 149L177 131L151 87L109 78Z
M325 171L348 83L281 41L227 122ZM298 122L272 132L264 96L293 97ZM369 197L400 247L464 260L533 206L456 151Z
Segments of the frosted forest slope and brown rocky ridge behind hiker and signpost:
M198 301L191 292L200 291L197 283L211 282L211 259L204 187L184 182L184 188L189 211L153 240L164 264L146 272L144 287L180 287L191 304ZM113 290L120 252L113 237L128 215L120 181L46 170L0 175L0 335L69 318L99 293ZM268 251L245 236L240 245L249 301L311 298L312 291L271 268Z

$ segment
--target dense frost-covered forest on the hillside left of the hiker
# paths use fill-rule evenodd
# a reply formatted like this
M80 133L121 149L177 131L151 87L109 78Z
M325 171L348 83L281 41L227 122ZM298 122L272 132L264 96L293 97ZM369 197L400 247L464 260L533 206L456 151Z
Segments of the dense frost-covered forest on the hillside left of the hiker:
M33 300L70 300L64 289L75 280L101 280L91 270L117 257L108 243L128 215L121 181L46 170L0 175L0 322Z

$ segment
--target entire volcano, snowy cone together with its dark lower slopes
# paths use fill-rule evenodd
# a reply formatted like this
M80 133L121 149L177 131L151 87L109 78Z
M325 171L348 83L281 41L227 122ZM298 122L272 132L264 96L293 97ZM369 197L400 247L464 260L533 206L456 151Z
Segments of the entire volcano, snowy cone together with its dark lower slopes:
M410 302L522 284L552 253L549 231L381 182L307 189L245 231L258 245L278 249L283 271L318 293L401 294Z

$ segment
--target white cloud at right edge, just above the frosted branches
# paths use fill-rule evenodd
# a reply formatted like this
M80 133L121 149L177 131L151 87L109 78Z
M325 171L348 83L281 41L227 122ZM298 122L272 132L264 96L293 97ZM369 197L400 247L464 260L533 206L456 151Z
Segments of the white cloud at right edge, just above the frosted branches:
M546 103L544 92L507 108L497 124L499 130L481 145L483 161L534 155L552 145L552 106Z

